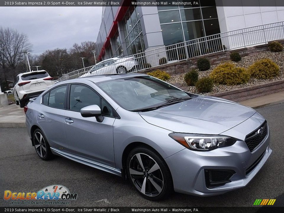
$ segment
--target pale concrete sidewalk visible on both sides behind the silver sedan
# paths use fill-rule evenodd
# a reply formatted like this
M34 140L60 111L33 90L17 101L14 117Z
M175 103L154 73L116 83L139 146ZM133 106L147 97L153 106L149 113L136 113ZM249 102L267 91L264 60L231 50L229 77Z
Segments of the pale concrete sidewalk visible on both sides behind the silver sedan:
M270 104L277 104L284 102L284 91L273 93L247 101L242 101L240 104L252 108L259 108ZM16 104L0 108L0 128L25 128L25 113L24 109Z

